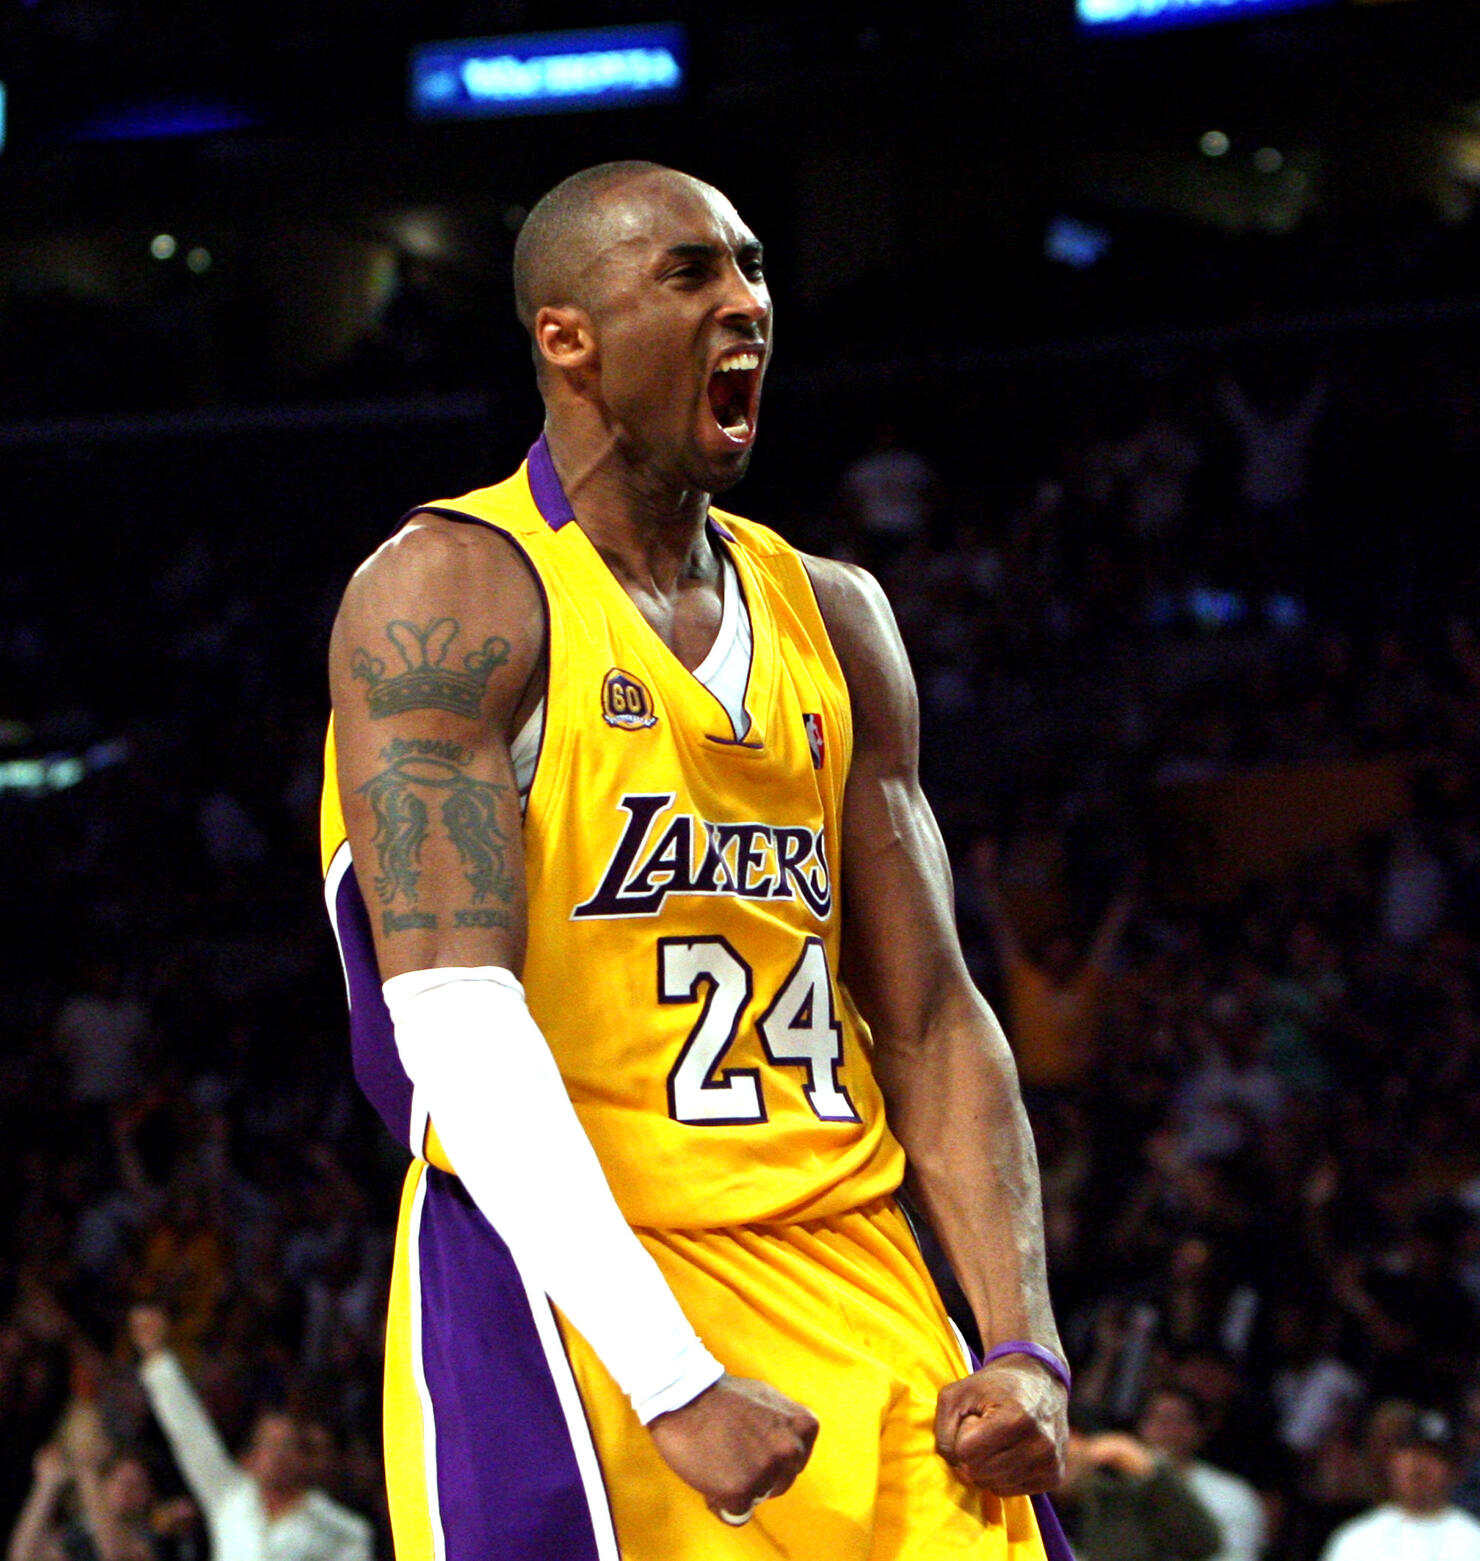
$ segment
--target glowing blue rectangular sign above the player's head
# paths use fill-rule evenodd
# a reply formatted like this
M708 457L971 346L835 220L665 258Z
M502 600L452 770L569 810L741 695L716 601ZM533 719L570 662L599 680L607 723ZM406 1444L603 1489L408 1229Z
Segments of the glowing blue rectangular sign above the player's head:
M411 55L414 119L496 119L664 103L684 89L673 23L423 44Z

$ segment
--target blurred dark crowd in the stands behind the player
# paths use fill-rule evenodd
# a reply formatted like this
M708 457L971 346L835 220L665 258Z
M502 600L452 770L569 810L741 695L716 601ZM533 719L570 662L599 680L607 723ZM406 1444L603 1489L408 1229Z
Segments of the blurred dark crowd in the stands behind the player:
M873 567L909 643L1038 1140L1087 1556L1213 1555L1222 1472L1313 1561L1419 1444L1480 1513L1480 376L1416 337L1091 378L1005 429L1007 390L820 420L735 507ZM977 420L1021 432L1005 478ZM0 1527L55 1499L11 1561L80 1555L67 1485L86 1519L120 1466L150 1553L205 1553L141 1302L228 1444L286 1411L386 1545L401 1155L315 885L342 571L214 500L162 565L0 585L5 740L86 762L0 790ZM393 518L334 517L347 560ZM1127 1549L1168 1467L1191 1509Z

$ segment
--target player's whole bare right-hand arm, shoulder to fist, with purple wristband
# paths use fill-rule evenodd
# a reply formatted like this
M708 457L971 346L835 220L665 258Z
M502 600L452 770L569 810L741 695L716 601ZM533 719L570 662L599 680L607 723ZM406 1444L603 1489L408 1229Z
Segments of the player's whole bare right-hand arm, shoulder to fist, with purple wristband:
M848 681L852 768L843 804L845 977L874 1035L890 1127L982 1330L1063 1358L1049 1307L1038 1165L1002 1027L960 952L951 865L920 790L920 704L877 582L807 560ZM1029 1355L940 1394L935 1439L998 1495L1063 1477L1068 1394Z

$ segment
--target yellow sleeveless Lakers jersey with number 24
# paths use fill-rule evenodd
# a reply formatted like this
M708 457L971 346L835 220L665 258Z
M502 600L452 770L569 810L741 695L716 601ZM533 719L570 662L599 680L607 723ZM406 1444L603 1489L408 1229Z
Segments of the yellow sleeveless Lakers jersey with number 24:
M575 524L543 440L509 481L431 507L500 531L543 588L523 982L628 1221L815 1219L893 1191L904 1157L838 980L848 690L801 557L712 514L752 629L737 735ZM342 841L331 752L326 868ZM362 1051L376 1099L389 1058ZM376 1104L401 1132L400 1096ZM446 1166L434 1129L425 1154Z

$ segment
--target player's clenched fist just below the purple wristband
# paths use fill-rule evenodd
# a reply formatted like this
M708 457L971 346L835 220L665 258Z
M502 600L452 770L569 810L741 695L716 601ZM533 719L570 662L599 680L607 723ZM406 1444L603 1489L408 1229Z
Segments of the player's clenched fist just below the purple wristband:
M941 1388L935 1449L966 1485L1037 1495L1063 1480L1069 1396L1030 1360L993 1361Z

